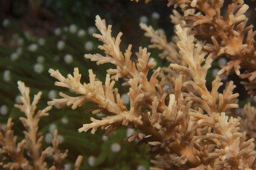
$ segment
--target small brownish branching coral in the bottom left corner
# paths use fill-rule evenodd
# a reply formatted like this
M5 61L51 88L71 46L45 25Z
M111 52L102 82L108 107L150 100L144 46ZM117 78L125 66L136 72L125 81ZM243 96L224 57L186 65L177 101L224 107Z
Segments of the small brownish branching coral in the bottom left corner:
M44 136L40 136L38 133L38 122L43 116L48 116L47 113L51 110L52 106L48 106L43 110L39 110L36 114L37 104L41 98L42 92L38 92L34 96L33 101L30 101L29 97L29 88L25 86L23 82L18 82L18 88L22 96L20 99L22 101L21 105L15 105L20 111L25 113L26 117L20 117L21 122L23 123L26 130L23 131L25 134L25 139L17 143L17 136L14 136L14 131L12 130L13 122L12 118L9 118L7 125L5 126L4 133L0 133L0 154L1 154L1 166L7 169L23 169L23 170L35 170L35 169L48 169L47 163L45 162L47 154L50 153L52 147L47 147L42 151L42 142ZM63 169L61 162L67 157L66 150L64 153L61 153L58 150L58 131L54 132L54 139L52 140L53 144L53 158L54 163L49 168L49 170L61 170ZM17 146L17 147L16 147ZM29 159L24 157L24 151L27 150L27 153L32 161L32 164L29 162ZM10 161L9 159L12 159ZM9 162L6 164L6 160ZM79 156L75 169L79 169L81 165L82 156Z

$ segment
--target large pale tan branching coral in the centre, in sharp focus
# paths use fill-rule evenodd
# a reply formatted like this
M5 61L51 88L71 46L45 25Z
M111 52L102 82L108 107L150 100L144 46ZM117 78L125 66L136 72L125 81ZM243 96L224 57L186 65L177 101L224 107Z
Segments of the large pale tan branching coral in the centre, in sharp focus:
M178 76L172 78L172 89L167 97L163 91L166 85L164 76L160 82L157 80L161 68L157 68L148 77L148 71L156 63L149 58L147 49L140 48L136 53L137 61L132 62L131 45L124 54L120 51L122 33L116 38L112 37L111 26L107 27L105 20L99 16L96 16L96 26L101 34L93 34L93 37L104 43L99 48L105 51L105 56L86 54L85 57L96 61L98 65L108 62L116 65L116 69L107 71L105 85L96 79L92 70L89 70L90 82L82 84L78 68L74 69L73 76L69 74L67 78L58 70L49 69L51 76L59 80L55 85L73 89L77 95L60 93L63 98L53 99L48 102L49 105L73 105L72 108L76 109L87 102L93 102L96 106L89 109L93 114L107 115L101 120L91 118L92 123L84 124L79 132L91 128L91 133L95 133L101 127L108 136L121 126L137 128L138 131L127 140L131 142L137 138L140 140L137 144L147 143L151 148L148 154L161 160L151 162L162 169L254 168L254 139L246 141L246 133L238 131L240 119L229 118L225 113L230 108L238 108L235 100L239 94L233 94L236 86L231 81L223 93L218 93L223 83L216 76L211 91L208 90L206 76L213 59L204 59L202 44L194 43L195 37L187 34L189 29L176 26L180 41L175 45L169 44L163 34L159 35L151 27L141 24L147 31L146 36L153 37L152 47L174 51L175 55L169 54L168 57L172 58L169 59L171 62L177 61L171 63L170 67L178 70ZM178 48L179 51L176 51ZM184 79L185 76L190 78ZM115 81L120 78L129 79L122 85L129 86L130 107L123 104L118 89L113 89ZM190 93L186 90L188 85L193 88Z

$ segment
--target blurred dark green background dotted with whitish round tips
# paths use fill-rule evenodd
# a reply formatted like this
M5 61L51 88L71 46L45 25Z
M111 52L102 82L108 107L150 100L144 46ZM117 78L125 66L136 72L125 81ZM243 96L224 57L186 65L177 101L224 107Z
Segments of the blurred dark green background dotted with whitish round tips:
M227 2L227 1L226 1ZM226 3L225 2L225 3ZM248 1L250 9L247 17L255 18L255 2ZM96 65L96 62L84 58L84 54L104 54L97 48L102 45L93 33L99 33L95 26L95 17L99 15L111 24L112 35L115 37L122 31L121 50L125 51L129 44L132 51L138 51L139 46L146 47L149 39L143 37L139 23L147 23L153 28L166 33L168 40L172 40L173 24L169 15L172 8L166 6L166 0L153 0L147 5L130 0L0 0L0 122L3 125L9 117L15 123L13 130L18 139L23 139L24 127L19 120L24 116L13 107L20 103L20 93L17 81L25 82L30 87L31 97L42 91L43 95L38 109L47 106L47 101L59 98L60 91L67 95L75 95L66 88L56 87L55 79L49 76L49 68L58 69L66 77L78 67L82 74L81 81L88 82L88 69L105 82L106 70L113 65ZM253 23L254 22L254 23ZM255 20L250 21L255 25ZM151 57L156 59L157 66L167 66L168 62L158 58L158 50L149 50ZM227 62L221 58L212 64L211 73L217 73L219 65ZM210 85L213 76L208 76ZM228 76L223 81L235 79L239 92L239 104L255 103L240 85L236 75ZM123 80L116 82L115 87L125 103L129 104L128 88L121 88ZM73 169L78 155L83 155L82 170L87 169L122 169L146 170L149 168L150 156L145 145L137 147L135 142L127 143L123 139L130 136L134 130L122 128L110 136L104 136L104 130L97 130L94 135L79 133L83 124L90 123L90 117L100 119L102 116L84 113L91 104L84 105L76 110L70 107L54 107L49 116L39 122L39 132L43 133L44 148L51 146L52 133L58 129L61 151L69 150L64 160L65 169ZM19 140L18 140L19 141ZM47 156L47 163L52 164L52 155Z

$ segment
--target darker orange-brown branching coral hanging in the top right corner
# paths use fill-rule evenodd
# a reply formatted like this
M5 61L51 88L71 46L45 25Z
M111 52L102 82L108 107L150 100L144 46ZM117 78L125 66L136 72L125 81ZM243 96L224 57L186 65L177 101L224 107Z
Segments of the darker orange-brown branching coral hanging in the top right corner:
M181 17L186 23L183 27L192 28L189 34L198 39L211 39L211 44L204 45L209 52L208 58L217 59L225 56L230 59L218 72L219 75L230 74L233 70L249 82L241 82L246 90L256 95L256 41L253 37L253 25L247 26L248 18L244 13L249 6L243 0L233 0L227 6L226 16L221 16L224 0L169 0L168 6L180 6L182 11L197 9L202 14L190 14ZM246 69L242 74L240 69Z

